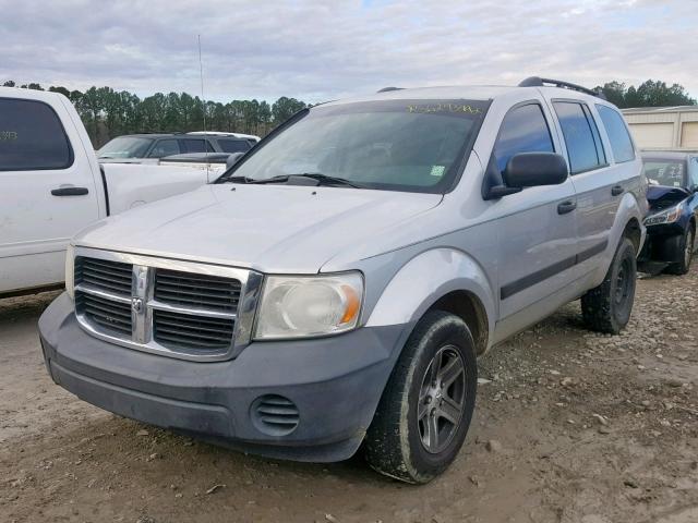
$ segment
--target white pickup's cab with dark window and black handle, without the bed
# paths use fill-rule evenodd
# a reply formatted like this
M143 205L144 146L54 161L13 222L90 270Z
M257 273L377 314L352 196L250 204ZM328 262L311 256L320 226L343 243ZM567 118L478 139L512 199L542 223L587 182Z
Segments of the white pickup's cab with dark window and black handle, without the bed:
M0 294L63 281L65 246L99 218L101 191L61 97L12 94L0 92Z

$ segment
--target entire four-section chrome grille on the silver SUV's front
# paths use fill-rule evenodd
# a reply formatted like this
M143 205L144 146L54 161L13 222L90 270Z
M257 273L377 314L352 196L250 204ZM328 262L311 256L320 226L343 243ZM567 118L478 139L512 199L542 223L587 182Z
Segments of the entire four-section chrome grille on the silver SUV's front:
M75 247L81 326L182 360L226 360L249 343L261 283L251 270Z

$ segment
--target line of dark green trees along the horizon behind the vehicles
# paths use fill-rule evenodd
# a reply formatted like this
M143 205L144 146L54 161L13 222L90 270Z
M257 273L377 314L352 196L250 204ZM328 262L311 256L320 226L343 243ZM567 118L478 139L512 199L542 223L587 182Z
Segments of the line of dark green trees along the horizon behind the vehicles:
M16 87L13 81L3 85ZM19 87L45 90L36 83ZM51 86L48 90L61 93L73 102L95 148L122 134L203 131L204 115L207 130L264 136L297 111L310 107L286 96L273 104L255 99L222 104L204 102L188 93L156 93L141 98L111 87L91 87L83 93ZM638 87L613 81L597 86L595 90L619 108L696 105L682 85L667 85L659 80L648 80Z

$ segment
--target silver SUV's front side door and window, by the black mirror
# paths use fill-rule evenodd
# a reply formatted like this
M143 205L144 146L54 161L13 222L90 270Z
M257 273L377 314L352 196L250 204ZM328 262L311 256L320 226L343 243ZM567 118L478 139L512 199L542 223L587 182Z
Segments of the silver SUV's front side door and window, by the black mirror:
M559 153L551 121L539 100L512 108L502 122L491 161L503 171L517 153ZM494 205L501 216L496 336L501 339L546 316L574 293L575 187L568 178L559 185L525 188Z

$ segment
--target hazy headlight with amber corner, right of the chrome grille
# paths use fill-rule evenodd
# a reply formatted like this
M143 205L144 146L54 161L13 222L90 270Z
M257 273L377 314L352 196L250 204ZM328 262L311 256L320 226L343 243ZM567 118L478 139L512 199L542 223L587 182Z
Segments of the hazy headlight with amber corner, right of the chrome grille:
M254 338L309 338L345 332L359 323L363 277L269 276L264 283Z

